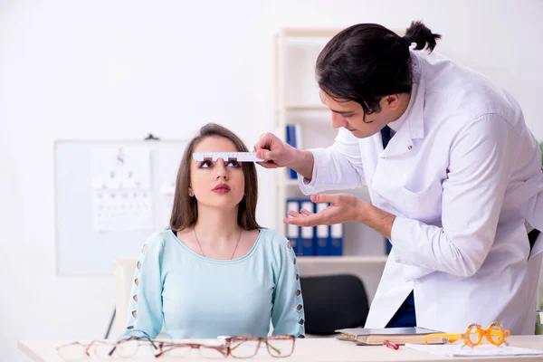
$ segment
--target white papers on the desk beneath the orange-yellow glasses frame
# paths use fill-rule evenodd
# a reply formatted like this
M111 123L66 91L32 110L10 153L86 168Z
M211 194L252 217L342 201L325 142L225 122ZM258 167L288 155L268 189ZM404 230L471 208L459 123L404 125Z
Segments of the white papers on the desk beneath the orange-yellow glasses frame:
M543 356L543 350L519 348L510 346L496 347L492 345L479 345L474 348L464 347L462 344L453 345L414 345L406 344L405 347L433 355L448 357L476 357L476 356Z

